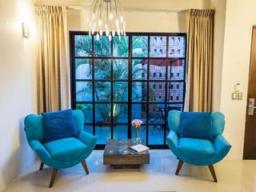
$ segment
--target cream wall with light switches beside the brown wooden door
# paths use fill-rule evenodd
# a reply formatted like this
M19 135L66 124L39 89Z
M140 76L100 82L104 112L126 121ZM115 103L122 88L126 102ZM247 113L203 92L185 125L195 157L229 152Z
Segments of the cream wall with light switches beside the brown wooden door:
M250 43L252 26L256 25L255 7L255 0L227 0L226 3L221 110L226 114L225 136L232 145L230 159L242 159L243 154ZM231 100L236 82L242 85L242 101Z

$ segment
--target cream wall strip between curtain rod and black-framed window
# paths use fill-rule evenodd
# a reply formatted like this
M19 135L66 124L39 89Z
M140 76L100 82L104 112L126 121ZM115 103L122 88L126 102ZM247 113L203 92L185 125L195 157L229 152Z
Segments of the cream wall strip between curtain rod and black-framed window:
M128 32L186 32L184 13L124 12L123 15ZM68 30L88 31L88 16L87 10L68 10Z

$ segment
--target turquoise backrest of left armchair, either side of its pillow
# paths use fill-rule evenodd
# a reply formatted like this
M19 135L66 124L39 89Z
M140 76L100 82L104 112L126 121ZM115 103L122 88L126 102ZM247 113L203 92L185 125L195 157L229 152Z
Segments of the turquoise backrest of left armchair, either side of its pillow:
M81 110L73 110L73 117L78 134L83 130L84 115ZM42 127L42 115L29 114L25 118L25 130L26 138L30 142L32 140L38 140L39 142L45 142L45 134Z

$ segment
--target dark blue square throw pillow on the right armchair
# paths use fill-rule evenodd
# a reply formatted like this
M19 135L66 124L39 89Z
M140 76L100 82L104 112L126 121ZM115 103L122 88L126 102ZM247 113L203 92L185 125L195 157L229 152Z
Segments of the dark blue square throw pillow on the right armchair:
M182 138L204 138L214 140L210 112L182 112Z

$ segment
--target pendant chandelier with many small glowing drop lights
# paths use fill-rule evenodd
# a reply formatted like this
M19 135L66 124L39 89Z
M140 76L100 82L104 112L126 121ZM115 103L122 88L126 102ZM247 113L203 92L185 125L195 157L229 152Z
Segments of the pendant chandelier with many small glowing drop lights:
M126 36L126 22L122 16L120 0L94 0L88 21L89 34L96 35L96 40L104 32L110 41L116 35L119 38Z

